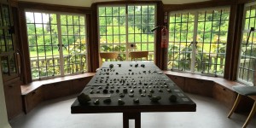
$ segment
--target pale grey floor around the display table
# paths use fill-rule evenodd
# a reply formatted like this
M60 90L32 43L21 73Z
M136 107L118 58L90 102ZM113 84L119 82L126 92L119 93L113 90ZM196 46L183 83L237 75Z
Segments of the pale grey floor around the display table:
M247 114L230 109L205 96L188 94L197 104L196 112L142 113L142 128L241 128ZM75 96L43 102L26 115L10 121L13 128L122 128L122 113L71 114ZM133 124L134 120L130 121ZM131 125L134 127L134 125ZM247 128L256 127L256 115Z

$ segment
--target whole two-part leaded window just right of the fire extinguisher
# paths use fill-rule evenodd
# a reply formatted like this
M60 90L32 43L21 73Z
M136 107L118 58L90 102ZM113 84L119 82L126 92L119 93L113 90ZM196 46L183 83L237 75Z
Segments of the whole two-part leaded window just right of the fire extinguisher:
M204 9L169 15L168 68L224 74L230 9Z

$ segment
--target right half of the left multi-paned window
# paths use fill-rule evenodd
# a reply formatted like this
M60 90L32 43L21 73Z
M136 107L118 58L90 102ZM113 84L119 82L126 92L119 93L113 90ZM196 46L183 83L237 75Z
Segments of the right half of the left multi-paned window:
M86 35L84 20L82 15L61 15L61 20L67 20L70 24L61 24L67 28L68 36L62 33L63 57L64 57L64 74L84 73L87 71L86 60ZM73 25L71 25L73 23Z

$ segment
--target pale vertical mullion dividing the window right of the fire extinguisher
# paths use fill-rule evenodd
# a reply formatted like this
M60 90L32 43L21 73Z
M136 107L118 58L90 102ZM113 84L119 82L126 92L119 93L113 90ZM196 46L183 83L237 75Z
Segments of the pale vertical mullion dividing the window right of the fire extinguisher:
M195 73L195 52L196 52L196 37L197 37L197 26L198 26L198 12L195 13L195 21L194 21L194 34L192 41L192 58L191 58L191 73Z

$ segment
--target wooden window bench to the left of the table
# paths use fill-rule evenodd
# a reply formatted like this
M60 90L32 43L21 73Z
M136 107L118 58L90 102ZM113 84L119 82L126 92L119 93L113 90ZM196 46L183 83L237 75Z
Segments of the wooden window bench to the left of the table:
M94 75L95 73L84 73L22 84L21 96L25 113L45 100L81 92Z

